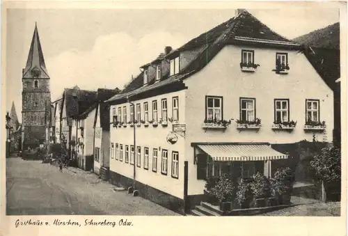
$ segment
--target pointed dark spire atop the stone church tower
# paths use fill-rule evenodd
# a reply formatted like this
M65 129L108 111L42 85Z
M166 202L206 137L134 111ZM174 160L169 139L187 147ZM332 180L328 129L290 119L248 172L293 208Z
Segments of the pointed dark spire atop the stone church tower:
M38 77L40 79L49 79L49 75L47 73L45 65L45 59L43 57L42 48L40 44L38 26L36 25L36 22L33 33L33 39L31 40L28 59L26 61L26 67L23 69L24 79L30 79L33 77Z

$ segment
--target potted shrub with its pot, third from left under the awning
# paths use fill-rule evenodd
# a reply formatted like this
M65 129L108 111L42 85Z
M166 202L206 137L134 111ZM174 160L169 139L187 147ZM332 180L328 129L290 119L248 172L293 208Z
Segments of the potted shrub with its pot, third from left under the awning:
M269 179L258 172L253 175L253 182L251 182L250 185L251 191L253 191L255 207L265 207L266 198L271 196L271 184Z

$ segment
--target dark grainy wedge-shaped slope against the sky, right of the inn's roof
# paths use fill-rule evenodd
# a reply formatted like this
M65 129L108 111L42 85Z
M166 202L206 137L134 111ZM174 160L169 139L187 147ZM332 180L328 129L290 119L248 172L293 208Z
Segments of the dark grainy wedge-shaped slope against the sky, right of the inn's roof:
M331 24L323 29L299 36L294 38L294 41L308 47L340 49L340 23Z

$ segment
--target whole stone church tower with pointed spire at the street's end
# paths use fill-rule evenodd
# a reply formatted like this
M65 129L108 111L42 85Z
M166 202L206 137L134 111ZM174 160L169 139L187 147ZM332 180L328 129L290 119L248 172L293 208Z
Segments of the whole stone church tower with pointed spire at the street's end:
M26 67L22 70L22 142L23 150L45 142L49 119L51 93L49 75L42 54L38 27L29 50Z

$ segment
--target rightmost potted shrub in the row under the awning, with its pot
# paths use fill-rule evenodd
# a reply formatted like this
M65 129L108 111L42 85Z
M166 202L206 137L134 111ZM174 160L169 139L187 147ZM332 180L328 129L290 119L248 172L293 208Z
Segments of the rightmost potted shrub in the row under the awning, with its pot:
M280 205L289 205L294 175L290 168L278 168L271 181L271 193L278 198Z

